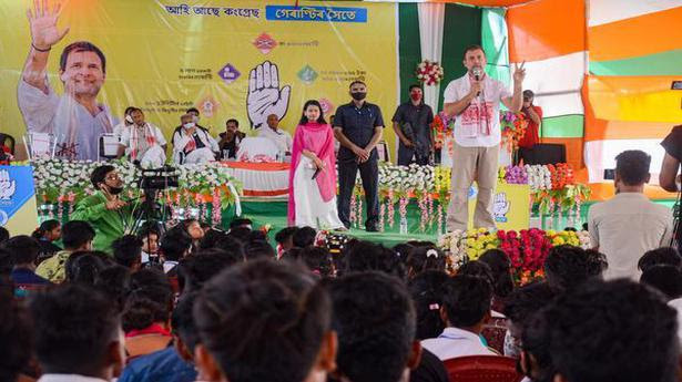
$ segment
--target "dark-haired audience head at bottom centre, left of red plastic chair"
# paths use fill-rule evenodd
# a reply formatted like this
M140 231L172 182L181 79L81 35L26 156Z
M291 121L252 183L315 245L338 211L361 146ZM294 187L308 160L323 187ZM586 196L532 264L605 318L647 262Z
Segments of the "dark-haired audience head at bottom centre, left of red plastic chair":
M336 380L406 382L421 347L416 314L401 280L381 272L330 279L332 328L338 335Z

